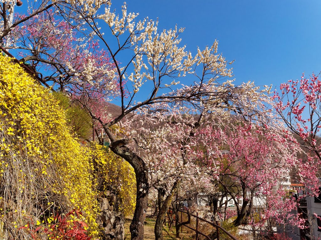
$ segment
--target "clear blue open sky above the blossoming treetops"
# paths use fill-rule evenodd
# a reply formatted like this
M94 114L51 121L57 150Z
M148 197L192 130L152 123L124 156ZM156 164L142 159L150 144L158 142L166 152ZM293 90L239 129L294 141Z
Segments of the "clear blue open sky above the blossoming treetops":
M113 1L112 8L122 1ZM185 27L188 50L219 41L236 83L278 85L321 71L320 0L127 0L128 12L159 18L159 28Z

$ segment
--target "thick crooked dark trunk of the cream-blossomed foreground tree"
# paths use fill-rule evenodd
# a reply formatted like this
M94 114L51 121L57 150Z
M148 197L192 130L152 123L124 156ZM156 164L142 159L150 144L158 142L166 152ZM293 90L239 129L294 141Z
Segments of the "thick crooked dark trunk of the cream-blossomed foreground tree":
M144 221L146 218L148 201L148 168L143 159L136 155L125 145L117 141L110 144L110 149L118 156L123 157L132 165L136 175L136 208L133 221L130 224L130 233L132 240L143 240Z

